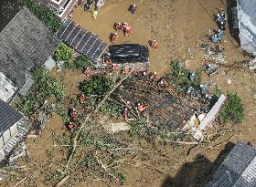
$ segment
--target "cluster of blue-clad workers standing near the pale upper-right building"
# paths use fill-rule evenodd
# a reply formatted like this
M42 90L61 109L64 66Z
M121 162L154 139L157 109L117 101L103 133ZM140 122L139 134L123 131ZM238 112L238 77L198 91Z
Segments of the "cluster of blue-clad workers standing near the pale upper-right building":
M215 21L218 24L218 33L211 35L210 36L210 41L214 44L217 44L218 42L220 43L221 40L223 39L223 31L226 29L225 25L227 22L227 15L226 13L222 10L222 12L220 14L217 14Z

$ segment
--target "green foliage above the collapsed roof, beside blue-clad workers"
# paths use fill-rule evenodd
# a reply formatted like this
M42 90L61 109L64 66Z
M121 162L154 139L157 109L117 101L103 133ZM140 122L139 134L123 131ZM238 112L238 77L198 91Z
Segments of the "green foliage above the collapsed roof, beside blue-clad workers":
M186 68L182 66L181 63L178 61L173 61L171 63L171 77L173 78L173 83L181 88L187 88L187 87L198 87L201 82L201 70L197 69L196 71L196 78L194 81L191 81L189 79L189 76L191 74L190 71L188 71Z

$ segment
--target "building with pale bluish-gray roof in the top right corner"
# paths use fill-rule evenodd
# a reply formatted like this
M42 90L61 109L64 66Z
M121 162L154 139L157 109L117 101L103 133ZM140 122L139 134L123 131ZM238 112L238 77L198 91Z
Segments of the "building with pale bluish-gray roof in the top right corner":
M240 47L256 56L256 1L236 0L237 5L231 7L232 33L239 31Z

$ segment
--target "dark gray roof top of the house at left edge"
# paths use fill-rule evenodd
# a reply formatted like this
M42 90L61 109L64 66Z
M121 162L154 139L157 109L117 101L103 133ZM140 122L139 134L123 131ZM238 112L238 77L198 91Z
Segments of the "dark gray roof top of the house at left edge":
M16 109L0 99L0 135L21 118L22 115Z

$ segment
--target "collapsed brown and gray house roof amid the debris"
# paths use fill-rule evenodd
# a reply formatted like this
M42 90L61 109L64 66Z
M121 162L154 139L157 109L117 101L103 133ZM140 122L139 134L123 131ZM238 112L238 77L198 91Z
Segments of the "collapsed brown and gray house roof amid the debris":
M112 99L119 103L129 101L132 106L143 102L148 106L147 116L151 124L166 130L181 130L195 112L208 110L209 107L207 102L177 94L170 85L161 88L157 82L149 83L140 76L124 80L112 94Z

